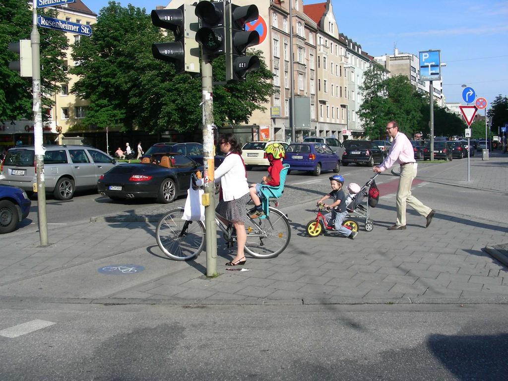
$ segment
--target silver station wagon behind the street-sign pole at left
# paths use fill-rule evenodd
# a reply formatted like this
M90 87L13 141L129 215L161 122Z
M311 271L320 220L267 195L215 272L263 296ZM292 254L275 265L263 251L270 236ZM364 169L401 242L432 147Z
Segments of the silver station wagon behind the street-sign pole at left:
M46 192L70 200L76 189L96 188L97 179L116 166L103 151L83 145L50 145L44 153ZM30 193L37 183L34 146L9 149L0 171L0 184L19 186Z

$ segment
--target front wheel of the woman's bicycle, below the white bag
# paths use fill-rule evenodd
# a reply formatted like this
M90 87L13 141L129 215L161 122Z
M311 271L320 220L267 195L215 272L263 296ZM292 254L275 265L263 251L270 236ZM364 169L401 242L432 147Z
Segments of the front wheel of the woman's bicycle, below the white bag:
M188 261L205 245L205 226L201 221L182 219L183 209L173 209L161 218L155 232L157 245L171 259Z

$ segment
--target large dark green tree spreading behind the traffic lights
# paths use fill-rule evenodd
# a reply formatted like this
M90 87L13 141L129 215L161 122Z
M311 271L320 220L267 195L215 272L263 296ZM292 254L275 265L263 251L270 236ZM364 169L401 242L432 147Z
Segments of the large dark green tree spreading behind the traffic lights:
M201 77L175 75L171 63L153 58L151 44L172 42L154 27L145 9L122 7L110 2L103 8L89 39L76 44L73 57L81 65L72 73L81 78L71 91L88 99L84 125L134 126L149 132L174 129L193 131L201 126ZM261 70L247 75L245 82L214 86L215 124L246 122L258 103L268 101L272 74L262 62ZM224 56L213 61L214 81L225 80Z

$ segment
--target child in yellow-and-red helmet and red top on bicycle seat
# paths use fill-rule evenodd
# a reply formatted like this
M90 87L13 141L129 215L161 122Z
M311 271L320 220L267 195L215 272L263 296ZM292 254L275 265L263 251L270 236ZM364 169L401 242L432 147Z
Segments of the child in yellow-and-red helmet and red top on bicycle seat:
M250 218L259 218L265 212L261 206L261 185L279 186L280 171L282 170L282 157L284 157L284 146L280 143L268 144L265 147L266 157L270 165L268 166L268 176L263 176L261 183L250 184L250 198L254 202L254 208L250 210Z

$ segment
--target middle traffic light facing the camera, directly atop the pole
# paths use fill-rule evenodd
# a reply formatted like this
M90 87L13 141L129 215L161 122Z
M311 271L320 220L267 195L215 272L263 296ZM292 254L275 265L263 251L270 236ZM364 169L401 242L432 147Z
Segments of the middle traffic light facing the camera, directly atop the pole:
M196 16L201 19L201 28L196 33L196 41L201 45L203 54L224 54L226 29L224 25L224 3L199 2Z

